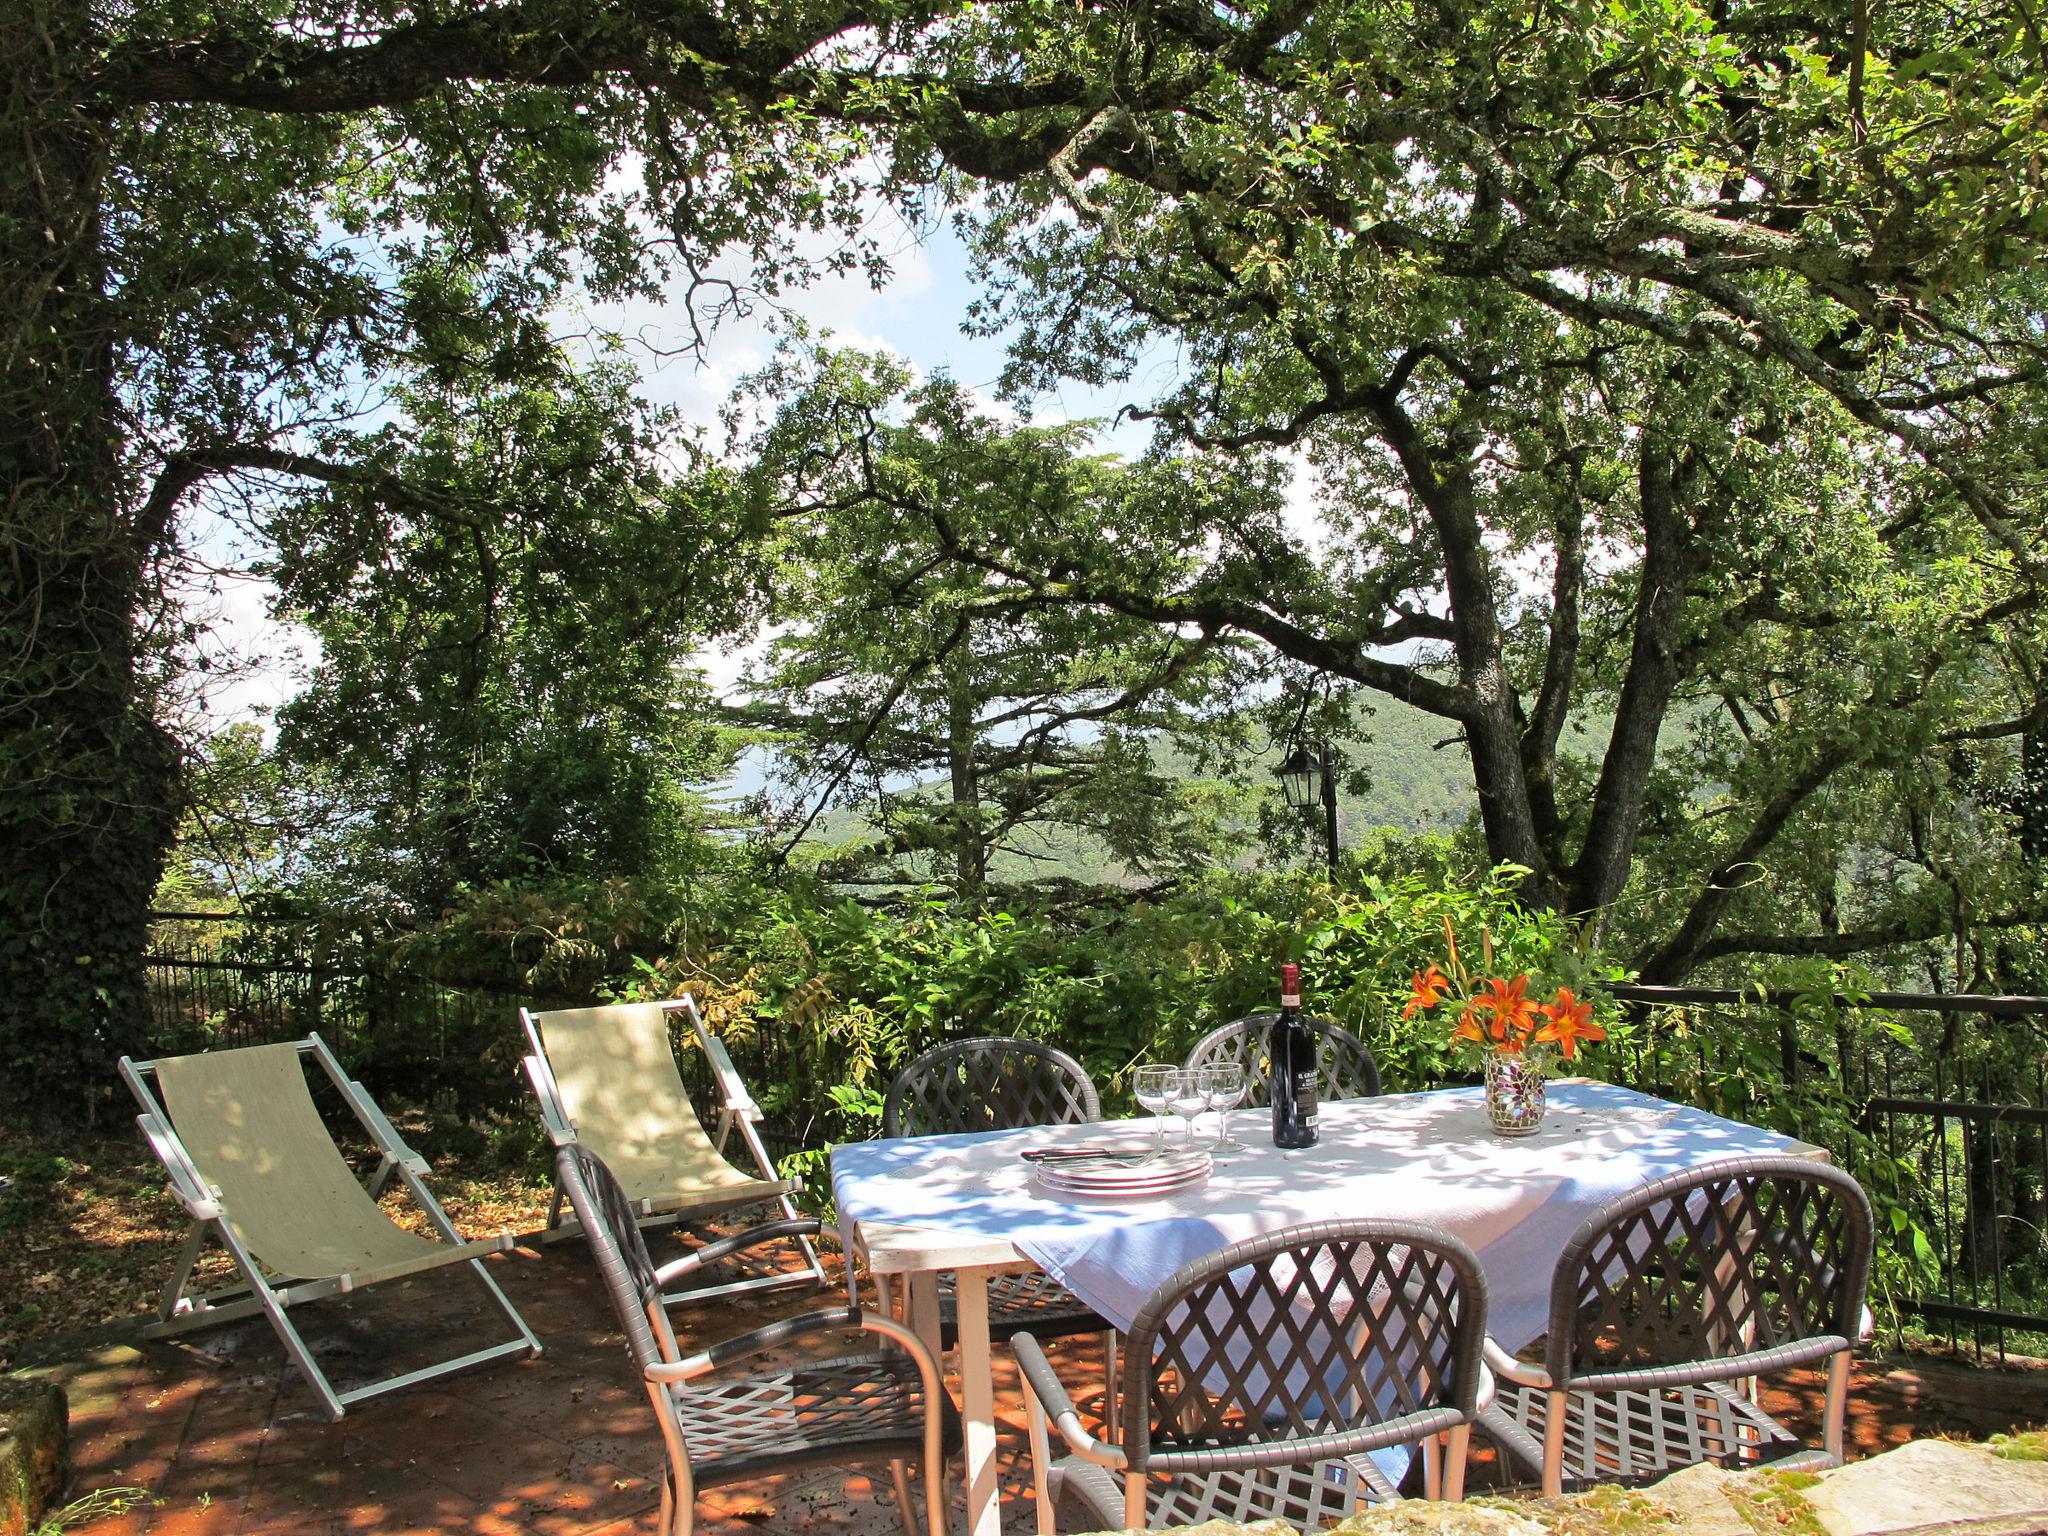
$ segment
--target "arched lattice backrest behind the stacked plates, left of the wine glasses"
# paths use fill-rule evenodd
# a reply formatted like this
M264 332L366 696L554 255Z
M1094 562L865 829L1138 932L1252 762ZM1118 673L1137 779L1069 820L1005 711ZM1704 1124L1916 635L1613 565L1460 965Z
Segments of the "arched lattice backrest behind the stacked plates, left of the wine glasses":
M1040 1040L952 1040L889 1083L885 1137L1014 1130L1102 1118L1102 1096L1065 1051Z

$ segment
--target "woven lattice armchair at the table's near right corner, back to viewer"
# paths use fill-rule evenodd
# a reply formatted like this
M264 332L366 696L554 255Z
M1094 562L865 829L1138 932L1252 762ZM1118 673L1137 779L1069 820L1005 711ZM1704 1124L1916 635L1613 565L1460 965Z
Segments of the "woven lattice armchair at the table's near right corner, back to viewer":
M1698 1462L1841 1464L1870 1280L1870 1200L1837 1167L1747 1157L1595 1210L1550 1282L1542 1364L1487 1343L1481 1430L1542 1479L1634 1483ZM1827 1362L1821 1446L1755 1403L1755 1378Z

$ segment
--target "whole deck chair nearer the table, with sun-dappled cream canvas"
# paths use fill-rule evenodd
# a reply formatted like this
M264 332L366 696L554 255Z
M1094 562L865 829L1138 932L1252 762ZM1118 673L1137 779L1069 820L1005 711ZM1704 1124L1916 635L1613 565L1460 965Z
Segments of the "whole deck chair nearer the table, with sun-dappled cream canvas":
M717 1139L682 1087L670 1014L688 1020L719 1092ZM541 1100L541 1118L555 1147L582 1143L612 1169L641 1229L696 1221L754 1204L776 1206L782 1221L801 1221L791 1194L801 1180L778 1178L756 1124L760 1106L733 1069L725 1044L705 1028L690 997L659 1004L563 1008L545 1014L520 1010L532 1055L526 1077ZM754 1174L727 1159L737 1135ZM582 1231L571 1212L563 1223L561 1186L547 1212L551 1235ZM719 1286L680 1290L670 1307L741 1290L825 1284L825 1266L809 1237L797 1239L803 1264L782 1274L756 1274Z

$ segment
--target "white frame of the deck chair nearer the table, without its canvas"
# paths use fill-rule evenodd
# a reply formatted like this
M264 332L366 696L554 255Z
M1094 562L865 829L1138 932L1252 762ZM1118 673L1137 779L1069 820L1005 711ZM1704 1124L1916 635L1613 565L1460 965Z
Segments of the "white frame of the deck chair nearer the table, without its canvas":
M760 1196L743 1196L737 1200L686 1200L676 1196L674 1200L639 1200L635 1204L635 1221L641 1231L651 1231L653 1227L672 1227L684 1221L696 1221L698 1217L715 1217L725 1210L743 1210L750 1204L774 1204L780 1212L780 1223L803 1221L797 1210L797 1202L791 1192L803 1188L803 1180L784 1180L776 1167L774 1159L768 1155L768 1145L760 1137L762 1110L754 1102L754 1094L748 1092L745 1079L739 1069L733 1067L733 1057L725 1049L725 1042L705 1026L705 1016L696 1008L696 999L690 995L674 997L662 1001L664 1016L682 1014L690 1026L690 1034L696 1038L696 1047L705 1053L705 1061L711 1065L711 1079L719 1090L719 1120L717 1128L711 1133L711 1145L719 1153L725 1153L727 1145L737 1135L739 1145L760 1176L768 1182L786 1186L782 1194L762 1200ZM547 1012L530 1012L526 1008L518 1010L520 1026L526 1030L526 1042L532 1051L524 1059L526 1079L532 1083L535 1098L541 1102L541 1120L547 1126L549 1141L561 1149L575 1143L575 1122L561 1098L561 1085L555 1081L555 1069L547 1059ZM563 1194L561 1186L555 1186L553 1198L547 1206L547 1233L549 1241L559 1241L563 1237L573 1237L578 1233L578 1223L561 1221ZM772 1219L774 1221L774 1219ZM735 1296L748 1290L778 1290L784 1286L807 1286L807 1284L827 1284L825 1266L817 1255L817 1243L809 1235L795 1237L799 1251L803 1253L803 1264L797 1270L784 1274L758 1274L745 1280L729 1280L717 1286L700 1286L694 1290L674 1292L668 1296L672 1307L682 1307L688 1303L715 1300L719 1296Z

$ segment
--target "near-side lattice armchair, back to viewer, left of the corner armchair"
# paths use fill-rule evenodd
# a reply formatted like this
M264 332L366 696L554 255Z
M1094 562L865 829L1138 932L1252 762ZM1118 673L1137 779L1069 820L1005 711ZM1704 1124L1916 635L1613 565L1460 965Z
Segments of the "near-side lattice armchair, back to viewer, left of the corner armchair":
M1395 1221L1288 1227L1182 1268L1124 1341L1114 1442L1081 1427L1020 1333L1038 1530L1051 1536L1069 1493L1090 1530L1286 1520L1313 1532L1397 1499L1366 1452L1417 1442L1425 1491L1456 1501L1485 1335L1473 1251ZM1057 1462L1049 1421L1073 1450Z

